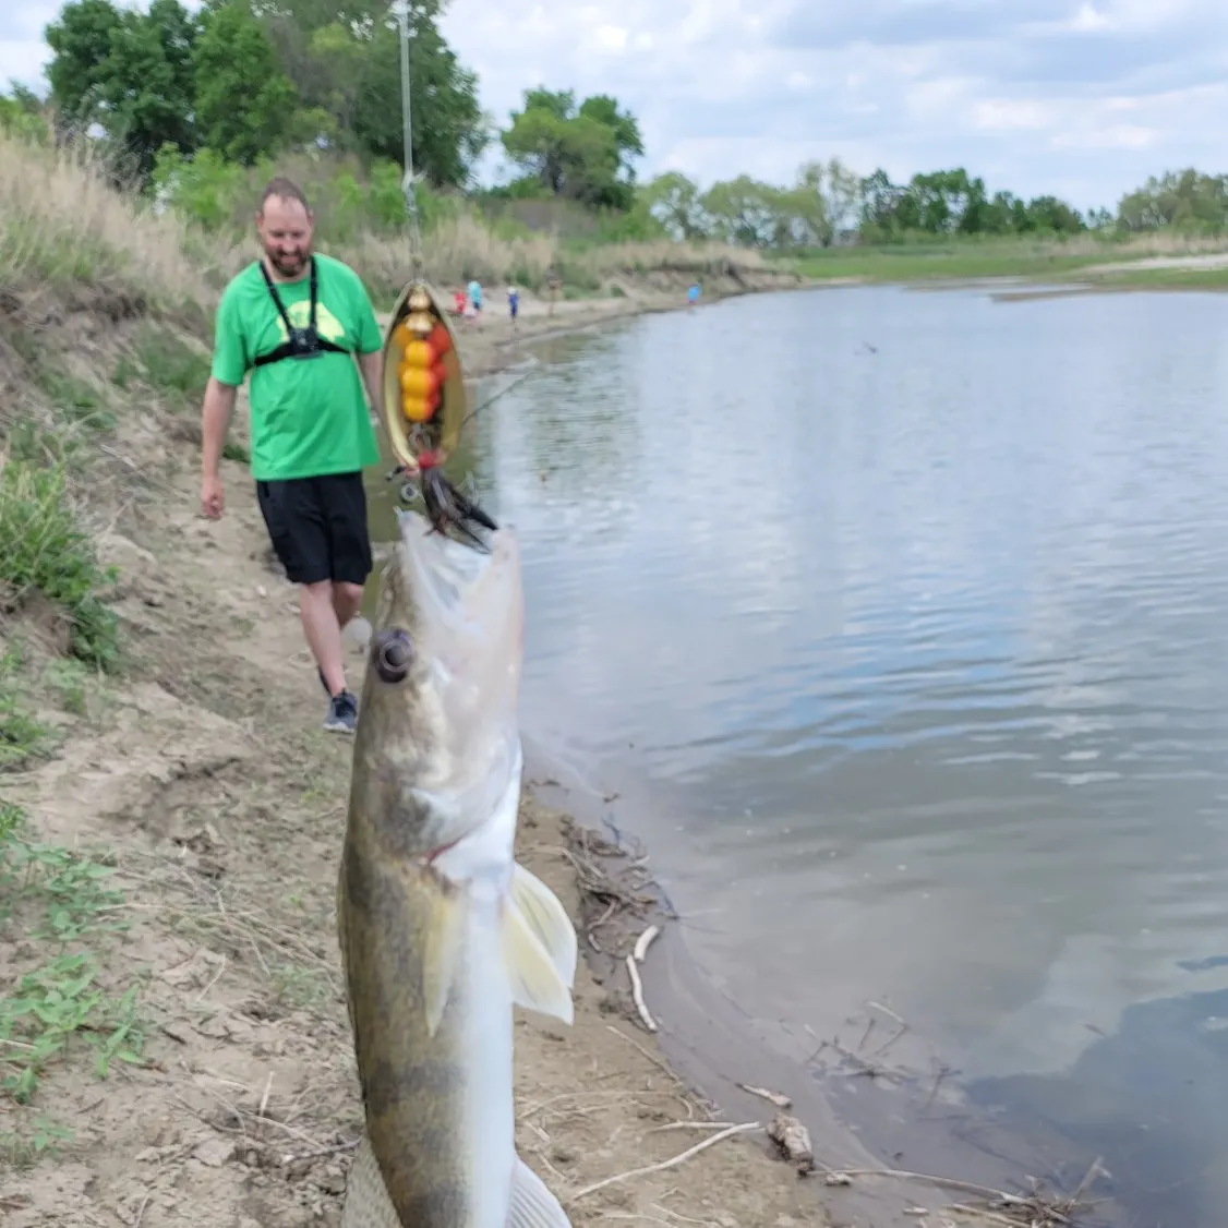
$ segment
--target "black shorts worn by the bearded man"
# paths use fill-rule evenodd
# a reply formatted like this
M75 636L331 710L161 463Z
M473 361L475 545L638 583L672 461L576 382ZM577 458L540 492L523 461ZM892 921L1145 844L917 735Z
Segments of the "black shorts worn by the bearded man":
M366 583L371 538L361 472L258 481L255 497L291 583Z

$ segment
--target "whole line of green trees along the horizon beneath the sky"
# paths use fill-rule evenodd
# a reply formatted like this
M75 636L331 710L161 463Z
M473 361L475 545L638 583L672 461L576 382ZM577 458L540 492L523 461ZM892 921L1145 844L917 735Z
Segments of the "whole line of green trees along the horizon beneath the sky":
M1151 178L1114 212L1079 212L1055 196L990 193L962 167L894 183L839 160L808 162L792 184L749 176L701 189L678 172L640 183L640 125L608 95L526 90L500 129L478 101L476 75L440 33L446 0L410 0L414 166L427 206L468 199L551 201L603 219L616 237L720 238L801 252L917 237L1062 236L1083 231L1228 233L1228 176L1194 169ZM32 139L87 134L128 179L208 226L274 161L319 181L354 226L404 225L400 49L389 0L70 0L47 27L50 93L0 95L0 126ZM494 141L515 169L474 184ZM246 206L244 206L246 208Z

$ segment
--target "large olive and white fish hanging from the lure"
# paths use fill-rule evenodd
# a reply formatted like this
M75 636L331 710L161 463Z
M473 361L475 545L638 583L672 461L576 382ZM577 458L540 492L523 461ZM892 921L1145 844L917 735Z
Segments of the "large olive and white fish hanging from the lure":
M515 1142L513 1005L571 1024L578 950L515 861L519 543L395 515L336 884L366 1117L341 1228L570 1228Z

